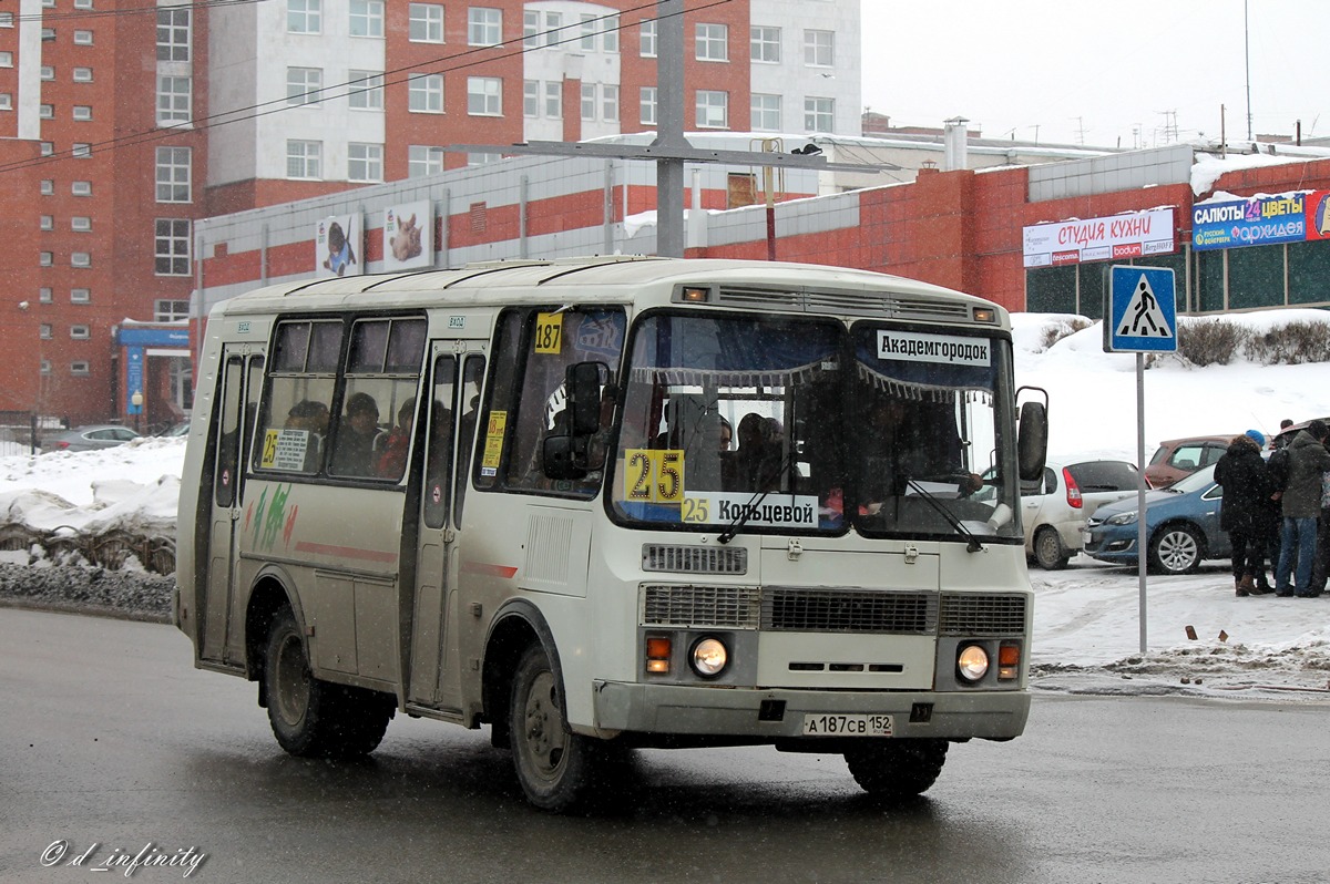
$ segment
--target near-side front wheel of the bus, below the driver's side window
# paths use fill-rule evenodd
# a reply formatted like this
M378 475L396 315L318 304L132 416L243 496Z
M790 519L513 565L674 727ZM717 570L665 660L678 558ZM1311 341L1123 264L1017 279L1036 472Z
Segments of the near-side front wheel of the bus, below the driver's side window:
M596 747L591 738L568 728L563 687L539 645L527 649L512 679L508 739L527 800L563 811L583 798L592 779Z

